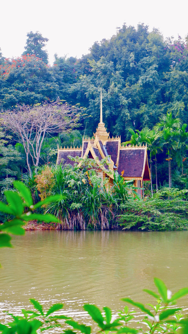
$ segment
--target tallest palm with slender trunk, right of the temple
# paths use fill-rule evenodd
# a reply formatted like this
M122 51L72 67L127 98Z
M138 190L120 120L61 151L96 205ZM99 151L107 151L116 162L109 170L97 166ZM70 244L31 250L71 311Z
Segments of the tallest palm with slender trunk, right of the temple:
M161 131L161 146L166 147L168 158L168 169L169 169L169 188L171 188L172 177L171 177L171 150L177 150L178 143L176 141L177 131L180 129L182 121L180 118L172 118L172 113L168 113L160 117L159 122L154 126L155 131Z

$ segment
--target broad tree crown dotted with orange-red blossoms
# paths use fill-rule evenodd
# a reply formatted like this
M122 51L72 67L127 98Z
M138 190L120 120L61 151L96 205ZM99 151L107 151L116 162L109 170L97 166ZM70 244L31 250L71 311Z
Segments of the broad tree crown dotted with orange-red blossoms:
M59 96L59 87L50 66L35 54L6 58L0 65L0 86L3 108L56 100Z

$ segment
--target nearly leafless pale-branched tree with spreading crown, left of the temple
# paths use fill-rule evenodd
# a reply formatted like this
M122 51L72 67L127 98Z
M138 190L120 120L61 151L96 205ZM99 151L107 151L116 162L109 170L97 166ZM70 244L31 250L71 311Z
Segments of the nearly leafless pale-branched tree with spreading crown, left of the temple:
M79 118L78 108L60 100L44 102L33 107L18 105L13 110L2 110L0 114L1 124L6 130L15 133L24 146L30 175L29 156L37 168L46 134L59 133L77 127Z

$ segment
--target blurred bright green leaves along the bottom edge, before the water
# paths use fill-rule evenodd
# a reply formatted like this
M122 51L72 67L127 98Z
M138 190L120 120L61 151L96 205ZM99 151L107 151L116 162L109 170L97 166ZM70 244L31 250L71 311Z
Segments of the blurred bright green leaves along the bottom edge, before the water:
M162 280L154 278L154 283L158 289L158 293L147 289L144 291L157 299L155 306L147 304L147 307L145 307L143 304L134 302L130 298L122 299L126 303L134 306L134 308L139 308L142 313L145 314L143 320L138 323L135 323L135 312L129 311L127 306L125 306L123 311L118 311L117 314L113 315L109 307L103 307L103 311L100 311L95 305L85 304L83 309L99 327L97 333L186 334L188 330L188 320L184 319L180 313L182 308L174 307L173 304L176 303L179 298L188 294L188 288L180 289L172 295L171 291L167 289ZM12 316L13 321L8 324L0 323L0 331L2 334L36 334L39 330L43 332L54 327L64 327L62 331L64 334L76 334L75 331L79 331L83 334L91 333L91 326L78 323L72 318L57 313L57 311L63 308L63 304L53 304L47 312L45 312L38 301L30 299L30 302L35 308L34 311L22 309L22 316L14 316L7 312L8 315ZM137 329L132 327L133 322ZM69 328L69 326L71 328Z

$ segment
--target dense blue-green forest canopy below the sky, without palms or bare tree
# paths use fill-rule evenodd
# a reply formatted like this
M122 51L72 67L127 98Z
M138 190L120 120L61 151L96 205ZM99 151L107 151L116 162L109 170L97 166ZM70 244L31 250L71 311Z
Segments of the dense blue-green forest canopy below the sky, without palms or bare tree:
M150 32L143 23L137 27L124 24L109 40L95 42L89 53L80 59L55 54L53 65L48 63L47 41L40 32L30 31L20 57L4 58L0 50L0 108L3 112L15 110L17 105L32 108L58 98L85 108L87 116L71 133L72 145L78 139L76 136L81 142L83 134L92 136L95 132L100 119L102 88L105 126L111 137L120 135L122 142L130 140L130 129L134 132L153 129L167 112L172 118L180 119L181 124L188 124L188 35L184 39L181 36L177 40L164 39L158 29ZM181 131L186 133L186 128ZM54 132L45 138L40 163L51 161L50 148L55 150L57 144L68 145L70 134L57 134ZM15 146L15 135L13 132L8 135L12 135L10 142ZM22 143L16 145L18 155L24 158ZM163 149L157 157L161 184L168 181L168 172L164 172L163 166L165 154ZM185 152L180 160L186 157Z

